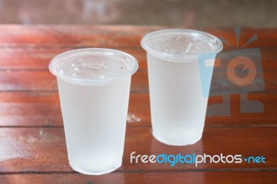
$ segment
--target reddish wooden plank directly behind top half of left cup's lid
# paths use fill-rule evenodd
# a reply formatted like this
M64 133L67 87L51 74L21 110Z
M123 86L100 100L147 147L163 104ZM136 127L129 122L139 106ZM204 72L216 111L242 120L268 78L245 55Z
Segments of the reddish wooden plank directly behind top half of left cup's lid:
M0 44L1 45L1 44ZM0 69L42 70L55 55L75 48L10 48L0 47ZM114 48L134 55L139 62L139 69L147 69L146 51L143 48ZM261 48L262 70L272 71L277 68L277 48Z

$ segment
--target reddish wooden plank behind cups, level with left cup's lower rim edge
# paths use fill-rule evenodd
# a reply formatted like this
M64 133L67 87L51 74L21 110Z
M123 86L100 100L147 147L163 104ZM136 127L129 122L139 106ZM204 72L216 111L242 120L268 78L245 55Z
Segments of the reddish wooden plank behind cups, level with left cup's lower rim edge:
M222 73L222 75L224 75ZM54 75L47 71L0 71L0 91L56 91L57 82ZM219 75L220 76L220 75ZM263 73L265 90L262 93L277 92L277 75L274 71ZM225 82L225 77L217 79ZM230 86L232 87L232 86ZM139 70L132 75L132 92L148 91L148 72Z

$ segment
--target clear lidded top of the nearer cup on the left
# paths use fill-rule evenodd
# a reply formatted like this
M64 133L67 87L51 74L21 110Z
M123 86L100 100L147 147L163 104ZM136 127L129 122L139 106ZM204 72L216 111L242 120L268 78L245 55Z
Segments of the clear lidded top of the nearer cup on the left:
M49 70L60 79L84 86L107 85L123 80L139 68L127 53L107 48L82 48L54 57Z

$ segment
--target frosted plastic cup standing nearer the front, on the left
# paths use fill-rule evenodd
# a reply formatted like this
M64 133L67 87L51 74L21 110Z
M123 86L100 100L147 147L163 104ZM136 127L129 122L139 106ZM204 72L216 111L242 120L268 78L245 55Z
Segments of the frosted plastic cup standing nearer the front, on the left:
M100 175L122 164L132 55L84 48L57 55L49 70L57 77L71 167Z

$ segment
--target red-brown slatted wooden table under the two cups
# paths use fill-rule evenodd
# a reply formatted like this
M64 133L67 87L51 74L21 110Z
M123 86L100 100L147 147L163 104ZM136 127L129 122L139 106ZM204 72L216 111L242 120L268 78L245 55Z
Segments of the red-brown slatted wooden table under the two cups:
M249 93L264 113L240 113L240 95L231 95L231 116L206 118L202 140L172 147L152 137L143 35L161 27L0 26L0 183L276 183L277 181L277 30L242 28L239 46L253 35L260 48L265 90ZM235 45L230 29L205 30ZM51 58L66 50L105 47L139 60L132 77L123 165L111 174L87 176L69 166ZM209 104L221 102L212 97ZM130 163L136 154L264 156L266 163Z

